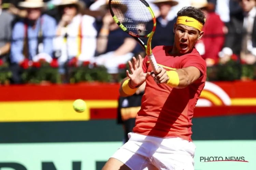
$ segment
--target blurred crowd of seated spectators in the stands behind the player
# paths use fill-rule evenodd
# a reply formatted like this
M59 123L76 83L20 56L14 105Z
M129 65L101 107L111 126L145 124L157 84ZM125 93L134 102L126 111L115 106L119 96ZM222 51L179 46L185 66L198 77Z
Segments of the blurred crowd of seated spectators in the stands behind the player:
M231 67L230 74L240 69L239 79L253 79L254 75L243 73L246 71L241 64L248 66L247 72L253 72L251 66L256 62L255 0L147 2L157 18L152 48L173 45L176 13L182 7L194 6L206 17L204 36L195 47L207 66L215 68L211 71L216 68L223 71L216 66L227 65ZM122 65L143 51L114 22L108 0L0 0L0 3L0 72L4 72L1 69L6 66L4 69L10 70L8 79L13 84L23 83L24 70L39 67L42 61L57 68L61 82L70 82L67 68L72 63L88 65L90 69L102 66L111 75L111 81L118 81ZM125 14L129 10L128 6L122 12ZM150 24L146 26L148 29L152 27ZM213 77L213 80L218 79Z

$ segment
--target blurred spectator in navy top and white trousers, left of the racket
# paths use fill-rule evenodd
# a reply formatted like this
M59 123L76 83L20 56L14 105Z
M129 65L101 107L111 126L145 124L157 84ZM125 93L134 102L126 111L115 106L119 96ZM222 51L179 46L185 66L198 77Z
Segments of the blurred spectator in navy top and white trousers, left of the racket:
M124 4L116 4L117 8L122 9L123 14L127 11ZM120 6L122 5L122 6ZM108 9L108 4L102 6ZM122 20L122 18L119 18ZM133 56L132 51L136 47L137 42L126 32L119 28L113 20L109 10L102 19L103 26L99 32L97 39L97 52L99 55L96 58L97 65L104 65L110 74L116 80L118 73L118 65L127 63Z

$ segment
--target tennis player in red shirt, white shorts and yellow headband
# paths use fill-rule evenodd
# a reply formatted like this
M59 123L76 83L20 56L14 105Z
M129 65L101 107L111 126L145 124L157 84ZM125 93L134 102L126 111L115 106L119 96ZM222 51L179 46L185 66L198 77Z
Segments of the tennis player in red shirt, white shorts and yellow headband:
M206 63L194 48L203 35L204 14L184 7L174 24L174 45L153 49L160 68L148 58L130 71L120 87L121 96L133 95L146 81L141 109L129 141L108 160L103 170L194 170L195 145L191 119L206 80ZM141 60L141 57L140 57Z

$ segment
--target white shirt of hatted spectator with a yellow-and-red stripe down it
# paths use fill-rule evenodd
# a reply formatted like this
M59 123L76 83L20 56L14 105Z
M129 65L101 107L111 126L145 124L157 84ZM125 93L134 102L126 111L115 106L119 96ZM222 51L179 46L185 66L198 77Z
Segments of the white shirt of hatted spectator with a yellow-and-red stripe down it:
M64 37L66 33L67 41ZM81 40L79 34L82 34ZM62 28L61 36L54 39L54 49L61 50L58 61L63 63L75 56L78 56L80 61L91 60L96 51L96 36L95 18L88 15L76 15L66 28Z

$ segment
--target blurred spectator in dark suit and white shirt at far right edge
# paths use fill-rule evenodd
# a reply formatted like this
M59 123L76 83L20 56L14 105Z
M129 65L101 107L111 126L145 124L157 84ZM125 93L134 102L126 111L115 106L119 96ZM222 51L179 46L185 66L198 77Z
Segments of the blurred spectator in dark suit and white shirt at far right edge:
M230 60L232 54L240 55L242 62L254 64L256 61L256 2L255 0L239 0L244 11L242 18L231 16L225 47L219 53L221 63Z

